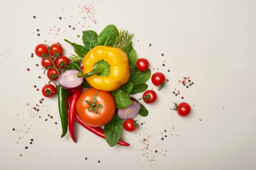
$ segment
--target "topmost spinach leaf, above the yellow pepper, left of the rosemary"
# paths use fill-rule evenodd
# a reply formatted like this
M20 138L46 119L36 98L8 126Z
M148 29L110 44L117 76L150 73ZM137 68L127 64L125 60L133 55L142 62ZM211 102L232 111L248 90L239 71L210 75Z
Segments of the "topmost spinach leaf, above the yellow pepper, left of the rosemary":
M116 26L108 25L102 30L97 37L97 45L113 46L113 42L116 41L116 36L119 34Z

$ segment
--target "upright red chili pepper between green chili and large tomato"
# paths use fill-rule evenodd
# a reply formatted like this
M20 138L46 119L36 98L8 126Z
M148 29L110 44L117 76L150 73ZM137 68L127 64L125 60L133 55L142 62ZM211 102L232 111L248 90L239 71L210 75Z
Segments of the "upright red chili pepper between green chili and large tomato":
M69 111L68 111L68 129L70 131L70 136L72 140L76 143L76 135L74 130L75 125L75 115L76 115L76 103L81 94L82 88L77 89L71 98L71 101L68 101ZM69 97L70 98L70 97Z

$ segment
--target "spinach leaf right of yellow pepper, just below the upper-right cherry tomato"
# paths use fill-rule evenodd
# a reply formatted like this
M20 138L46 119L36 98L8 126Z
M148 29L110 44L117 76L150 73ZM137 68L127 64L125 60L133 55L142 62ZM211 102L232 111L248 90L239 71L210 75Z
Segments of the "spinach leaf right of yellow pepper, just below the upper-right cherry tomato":
M139 71L138 68L133 67L130 69L130 78L134 85L139 85L148 81L151 76L151 70L148 68L146 71Z

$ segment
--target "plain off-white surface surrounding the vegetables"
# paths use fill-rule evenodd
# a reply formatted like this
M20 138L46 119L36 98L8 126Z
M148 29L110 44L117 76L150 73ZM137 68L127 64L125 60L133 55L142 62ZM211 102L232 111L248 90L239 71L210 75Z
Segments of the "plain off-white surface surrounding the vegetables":
M255 0L1 2L0 169L256 168ZM94 3L96 24L88 18L83 20L83 15L79 14L82 11L79 5L87 3ZM34 19L33 15L37 18ZM58 19L60 16L62 20ZM68 28L68 25L74 26L78 22L85 27L80 24L75 26L76 30ZM41 106L38 113L41 119L30 116L32 106L42 97L41 91L36 91L33 86L41 89L48 82L40 67L41 60L30 57L35 46L44 40L49 45L60 42L64 54L69 56L73 49L64 38L82 44L77 34L82 35L81 31L88 29L99 34L108 24L134 33L133 46L138 57L149 60L152 73L157 71L152 69L158 67L158 71L169 79L162 91L157 91L157 87L148 81L148 88L157 91L158 99L156 103L146 105L149 115L139 121L145 121L143 127L133 133L123 130L122 139L130 143L130 147L116 145L111 148L103 139L79 125L76 125L76 144L69 134L61 139L56 97L44 100L44 107ZM49 31L49 28L53 26L65 32L51 34L54 31ZM36 35L37 28L41 30L40 37ZM150 48L149 43L152 44ZM166 66L163 67L164 59ZM35 66L36 63L39 67ZM39 75L41 79L37 78ZM183 76L191 77L195 85L184 88L178 82ZM175 88L180 90L179 96L172 94ZM191 106L195 104L190 116L180 117L169 109L177 100ZM45 122L47 114L54 119ZM30 130L25 133L28 127ZM12 128L19 132L12 131ZM165 129L168 137L161 141ZM141 141L148 135L147 144L150 146L145 151L145 145L139 139ZM31 138L34 139L32 145L29 144ZM25 150L25 146L29 149ZM142 156L146 152L148 158ZM148 162L153 156L154 161ZM85 161L84 157L88 160Z

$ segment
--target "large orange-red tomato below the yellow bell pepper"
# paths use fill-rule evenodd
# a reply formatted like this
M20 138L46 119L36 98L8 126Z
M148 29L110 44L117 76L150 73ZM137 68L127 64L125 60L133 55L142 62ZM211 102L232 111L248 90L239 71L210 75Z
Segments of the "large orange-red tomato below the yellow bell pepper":
M93 106L95 96L96 103ZM91 106L84 100L90 102ZM85 124L100 127L111 121L116 111L116 103L109 92L89 88L79 96L76 111Z

